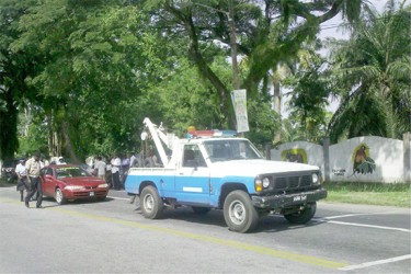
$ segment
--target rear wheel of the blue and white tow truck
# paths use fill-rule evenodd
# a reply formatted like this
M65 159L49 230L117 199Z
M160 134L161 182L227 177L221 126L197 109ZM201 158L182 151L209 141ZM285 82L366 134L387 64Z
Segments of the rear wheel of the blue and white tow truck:
M160 218L163 209L163 203L159 193L157 192L157 189L152 185L144 187L140 198L142 216L148 219Z

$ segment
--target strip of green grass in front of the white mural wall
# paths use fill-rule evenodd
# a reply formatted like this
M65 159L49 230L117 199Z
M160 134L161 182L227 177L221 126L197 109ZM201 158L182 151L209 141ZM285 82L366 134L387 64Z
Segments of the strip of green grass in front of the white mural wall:
M324 184L328 202L411 207L411 187L407 183L347 183Z

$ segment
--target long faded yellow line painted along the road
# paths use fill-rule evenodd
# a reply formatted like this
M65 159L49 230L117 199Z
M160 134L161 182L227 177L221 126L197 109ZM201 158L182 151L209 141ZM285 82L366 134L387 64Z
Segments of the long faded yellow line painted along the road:
M0 201L9 203L9 204L18 204L18 202L13 199L0 198ZM283 260L294 261L298 263L310 264L310 265L320 266L324 269L339 270L349 265L345 262L335 262L335 261L331 261L331 260L327 260L322 258L304 255L304 254L298 254L298 253L284 251L284 250L275 250L275 249L271 249L271 248L266 248L262 246L255 246L255 244L250 244L250 243L235 241L235 240L227 240L227 239L212 237L212 236L185 232L182 230L164 228L164 227L159 227L159 226L153 226L153 225L146 225L146 224L141 224L138 221L123 220L123 219L105 217L105 216L89 214L89 213L80 213L76 210L65 209L61 207L49 207L49 208L46 208L46 210L54 210L54 212L70 215L73 217L82 217L82 218L88 218L88 219L93 219L93 220L99 220L99 221L112 222L112 224L117 224L117 225L126 226L126 227L134 227L134 228L150 230L150 231L158 231L158 232L162 232L167 235L193 239L193 240L207 242L207 243L219 244L222 247L233 248L238 250L251 251L251 252L255 252L259 254L273 256L276 259L283 259Z

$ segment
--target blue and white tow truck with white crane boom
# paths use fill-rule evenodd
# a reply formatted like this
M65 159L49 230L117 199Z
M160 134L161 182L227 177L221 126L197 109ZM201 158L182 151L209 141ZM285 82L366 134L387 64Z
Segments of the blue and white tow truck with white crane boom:
M179 139L149 118L144 124L162 167L132 168L125 190L139 197L146 218L160 218L165 207L191 206L197 214L222 209L230 230L249 232L267 214L305 224L315 216L317 201L327 197L318 167L264 160L248 139L224 132Z

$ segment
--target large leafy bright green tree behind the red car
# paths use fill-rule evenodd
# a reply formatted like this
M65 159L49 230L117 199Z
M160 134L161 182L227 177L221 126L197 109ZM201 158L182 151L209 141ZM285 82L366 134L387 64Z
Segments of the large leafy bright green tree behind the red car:
M134 102L164 70L147 18L121 3L43 1L20 20L11 49L41 59L25 81L42 98L34 103L44 110L52 155L79 161L91 150L126 150Z

